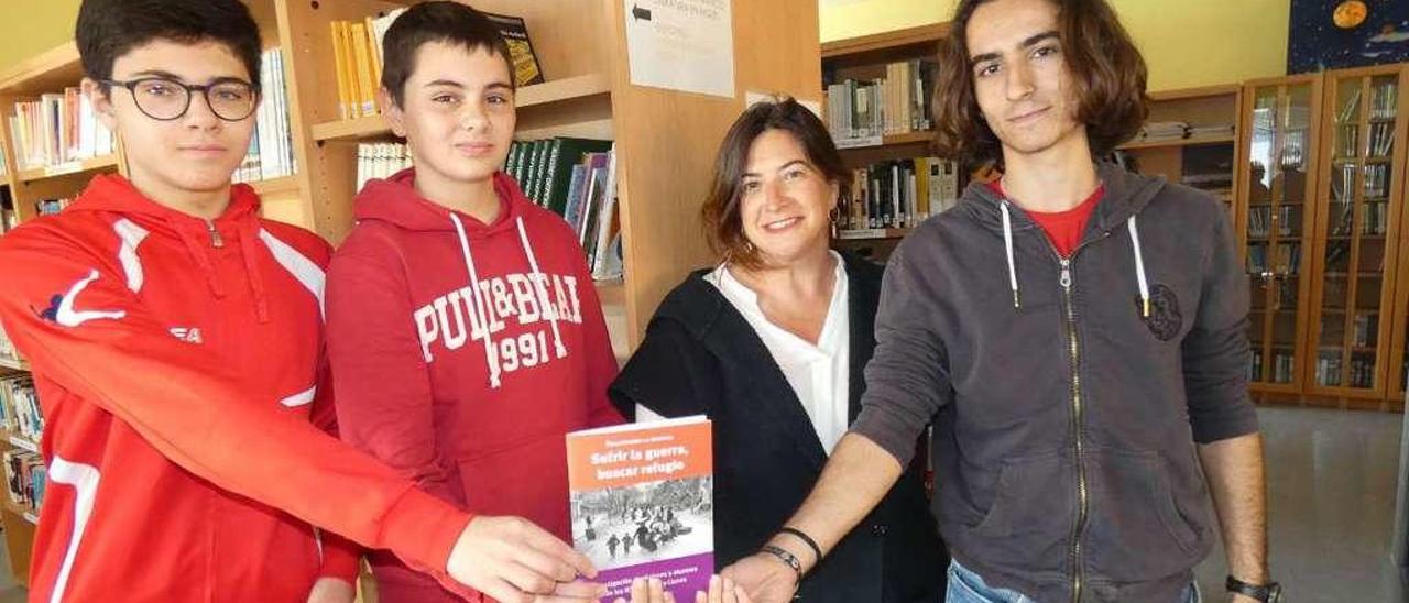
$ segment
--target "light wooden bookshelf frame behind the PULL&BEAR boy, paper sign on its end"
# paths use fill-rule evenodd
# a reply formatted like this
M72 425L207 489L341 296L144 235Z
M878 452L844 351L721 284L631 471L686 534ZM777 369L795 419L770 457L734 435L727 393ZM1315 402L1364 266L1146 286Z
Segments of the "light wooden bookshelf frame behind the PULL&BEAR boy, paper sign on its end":
M380 117L342 120L328 23L362 20L410 3L340 0L278 3L279 32L290 73L296 176L309 192L307 227L334 244L352 227L356 144L392 139ZM735 3L735 97L723 99L634 86L630 80L624 13L614 0L521 3L475 1L476 8L523 17L547 82L519 90L517 138L583 135L616 141L626 278L597 286L607 313L630 348L665 293L714 258L699 223L702 190L728 124L745 92L820 100L816 3ZM788 28L769 23L790 23ZM621 118L628 117L628 118ZM610 323L610 321L609 321Z

